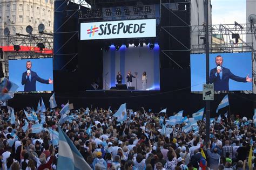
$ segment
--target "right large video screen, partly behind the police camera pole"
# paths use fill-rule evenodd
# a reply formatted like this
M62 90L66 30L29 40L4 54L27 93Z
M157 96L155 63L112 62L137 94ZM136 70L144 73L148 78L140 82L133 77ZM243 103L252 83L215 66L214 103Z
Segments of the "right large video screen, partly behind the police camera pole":
M252 90L252 54L210 54L210 83L215 91ZM206 82L205 54L191 54L191 91L202 91Z

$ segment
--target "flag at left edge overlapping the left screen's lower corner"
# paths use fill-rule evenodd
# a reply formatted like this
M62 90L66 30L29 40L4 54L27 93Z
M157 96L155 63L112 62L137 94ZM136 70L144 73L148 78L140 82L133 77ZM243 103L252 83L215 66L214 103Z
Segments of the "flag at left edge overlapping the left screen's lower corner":
M14 97L14 93L18 89L18 85L4 78L0 83L0 100L5 101Z

